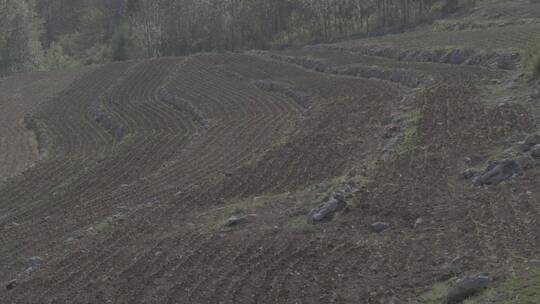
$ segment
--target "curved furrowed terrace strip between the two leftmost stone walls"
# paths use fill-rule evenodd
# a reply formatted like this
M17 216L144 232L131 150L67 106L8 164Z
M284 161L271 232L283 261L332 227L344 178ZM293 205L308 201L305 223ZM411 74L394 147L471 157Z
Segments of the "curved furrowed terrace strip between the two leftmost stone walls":
M63 229L43 229L43 222L30 221L36 214L47 214L54 209L61 197L69 195L70 183L78 178L84 177L85 166L90 163L88 159L96 157L101 145L106 145L104 136L99 135L103 131L96 126L87 112L87 107L91 103L94 94L101 92L111 79L120 75L124 69L119 69L115 65L96 69L79 81L75 81L70 88L61 93L55 100L47 104L38 113L38 118L46 126L46 132L51 136L52 151L47 159L36 165L29 172L21 183L14 184L15 191L4 192L9 201L14 203L14 207L8 210L9 217L5 220L24 224L22 228L9 231L6 237L23 238L24 235L33 235L38 239L47 239L53 234L63 233ZM59 113L67 111L60 117ZM97 135L96 135L97 134ZM91 148L88 146L92 146ZM97 145L97 146L96 146ZM67 153L64 155L63 153ZM60 174L61 173L61 174ZM27 184L28 186L24 186ZM19 191L32 189L32 191ZM70 205L78 202L78 198L72 197ZM51 214L49 217L58 218L64 214L60 212ZM28 219L28 220L27 220ZM73 225L73 222L69 222ZM10 243L11 244L11 243ZM6 259L25 255L31 247L35 247L39 242L17 246L16 250L5 246L3 249L10 252L3 255ZM41 244L44 248L50 247Z

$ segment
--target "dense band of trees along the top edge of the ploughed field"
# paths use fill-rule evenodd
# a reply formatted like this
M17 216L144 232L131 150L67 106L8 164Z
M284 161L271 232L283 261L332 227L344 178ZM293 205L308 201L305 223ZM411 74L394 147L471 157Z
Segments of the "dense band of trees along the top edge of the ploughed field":
M474 0L0 0L0 75L395 30Z

